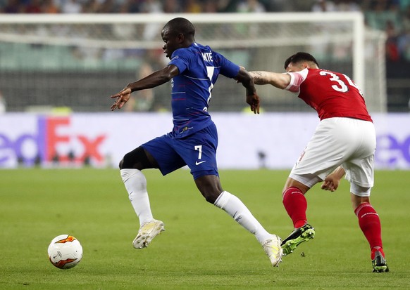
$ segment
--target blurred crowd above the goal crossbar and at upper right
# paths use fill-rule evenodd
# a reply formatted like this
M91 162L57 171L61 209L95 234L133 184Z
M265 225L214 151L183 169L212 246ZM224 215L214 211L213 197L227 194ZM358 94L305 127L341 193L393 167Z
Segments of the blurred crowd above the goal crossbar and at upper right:
M410 61L410 0L0 0L0 13L264 13L362 11L386 32L388 61Z

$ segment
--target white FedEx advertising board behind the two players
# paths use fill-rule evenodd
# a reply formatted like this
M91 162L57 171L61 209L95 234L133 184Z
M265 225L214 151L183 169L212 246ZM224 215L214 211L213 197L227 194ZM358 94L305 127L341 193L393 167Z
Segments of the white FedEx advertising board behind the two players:
M410 169L410 115L373 114L376 169ZM290 169L318 124L314 113L213 113L220 169ZM0 115L0 168L117 166L123 155L172 129L170 113Z

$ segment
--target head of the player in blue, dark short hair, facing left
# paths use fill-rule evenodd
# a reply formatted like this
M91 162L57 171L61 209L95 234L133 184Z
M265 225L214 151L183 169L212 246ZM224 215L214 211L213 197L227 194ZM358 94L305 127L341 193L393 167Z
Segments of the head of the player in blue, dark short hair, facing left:
M182 47L188 47L195 41L195 27L190 20L174 18L163 27L162 40L165 42L163 51L167 58L171 58L173 52Z

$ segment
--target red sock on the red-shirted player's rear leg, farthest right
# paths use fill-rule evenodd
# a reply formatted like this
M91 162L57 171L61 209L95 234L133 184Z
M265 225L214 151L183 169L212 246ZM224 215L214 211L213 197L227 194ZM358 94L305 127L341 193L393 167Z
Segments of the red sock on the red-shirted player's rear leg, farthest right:
M371 259L374 258L375 251L380 251L383 256L382 229L378 213L371 204L365 203L357 206L354 210L359 218L359 227L364 233L371 248Z

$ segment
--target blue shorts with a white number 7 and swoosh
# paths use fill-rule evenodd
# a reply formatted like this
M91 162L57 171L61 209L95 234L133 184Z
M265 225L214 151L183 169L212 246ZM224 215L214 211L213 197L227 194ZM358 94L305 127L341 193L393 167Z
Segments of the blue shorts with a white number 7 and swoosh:
M163 176L185 165L190 167L194 179L207 175L219 176L215 124L185 138L172 138L168 133L142 144L142 147L154 157Z

